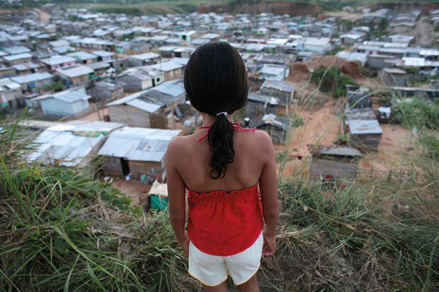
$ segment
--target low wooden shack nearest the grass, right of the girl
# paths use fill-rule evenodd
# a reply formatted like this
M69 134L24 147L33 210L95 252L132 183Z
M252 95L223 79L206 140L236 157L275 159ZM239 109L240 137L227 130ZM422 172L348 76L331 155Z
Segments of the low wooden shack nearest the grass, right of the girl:
M309 180L353 181L357 175L358 149L349 146L311 146Z

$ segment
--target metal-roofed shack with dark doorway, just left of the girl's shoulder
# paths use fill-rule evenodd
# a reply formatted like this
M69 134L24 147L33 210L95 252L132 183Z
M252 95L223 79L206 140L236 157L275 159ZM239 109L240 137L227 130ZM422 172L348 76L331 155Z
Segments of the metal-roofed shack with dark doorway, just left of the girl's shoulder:
M181 130L122 127L108 136L98 151L103 156L103 173L135 180L155 179L165 169L166 148Z

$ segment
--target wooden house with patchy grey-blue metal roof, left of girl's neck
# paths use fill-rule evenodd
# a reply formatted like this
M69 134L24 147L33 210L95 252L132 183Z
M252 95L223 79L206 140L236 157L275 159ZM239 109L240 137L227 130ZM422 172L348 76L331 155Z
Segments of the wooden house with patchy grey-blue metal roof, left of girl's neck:
M182 81L168 81L154 88L128 95L108 103L112 122L122 122L132 127L169 129L174 127L178 104L185 103Z

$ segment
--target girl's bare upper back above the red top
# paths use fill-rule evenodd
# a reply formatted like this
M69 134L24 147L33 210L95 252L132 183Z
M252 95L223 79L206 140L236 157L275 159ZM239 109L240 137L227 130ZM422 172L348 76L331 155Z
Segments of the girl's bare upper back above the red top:
M266 132L242 132L235 130L234 161L227 165L227 173L221 180L209 177L212 151L207 138L198 141L206 133L199 129L192 135L177 137L178 161L176 170L188 189L194 192L210 192L244 189L255 185L263 168L273 156L273 144Z

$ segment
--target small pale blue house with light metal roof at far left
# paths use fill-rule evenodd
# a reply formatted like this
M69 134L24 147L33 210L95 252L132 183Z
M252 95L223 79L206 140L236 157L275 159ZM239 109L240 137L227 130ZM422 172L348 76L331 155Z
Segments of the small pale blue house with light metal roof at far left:
M53 117L80 117L89 111L90 95L86 88L70 88L57 93L49 93L33 98L40 103L42 112Z

